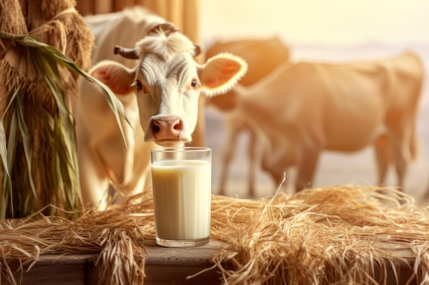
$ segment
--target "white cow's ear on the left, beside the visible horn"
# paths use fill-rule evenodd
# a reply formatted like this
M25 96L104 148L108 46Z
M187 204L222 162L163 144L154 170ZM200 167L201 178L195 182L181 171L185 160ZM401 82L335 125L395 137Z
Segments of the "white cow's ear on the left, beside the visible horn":
M89 71L92 77L108 85L117 95L126 95L135 91L134 70L117 62L104 61L95 65Z

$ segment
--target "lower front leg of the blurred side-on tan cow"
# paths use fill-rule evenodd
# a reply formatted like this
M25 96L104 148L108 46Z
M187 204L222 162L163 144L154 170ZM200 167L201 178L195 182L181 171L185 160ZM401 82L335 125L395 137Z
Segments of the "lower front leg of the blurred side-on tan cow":
M297 179L295 181L295 191L312 187L319 154L319 150L304 149L302 151L301 161L298 165Z

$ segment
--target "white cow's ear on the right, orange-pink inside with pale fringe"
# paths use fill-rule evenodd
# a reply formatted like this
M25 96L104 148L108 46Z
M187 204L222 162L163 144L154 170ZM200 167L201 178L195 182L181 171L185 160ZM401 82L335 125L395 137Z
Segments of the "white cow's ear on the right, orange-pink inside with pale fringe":
M208 59L198 70L201 90L207 96L223 94L230 90L247 72L247 64L236 55L220 53Z

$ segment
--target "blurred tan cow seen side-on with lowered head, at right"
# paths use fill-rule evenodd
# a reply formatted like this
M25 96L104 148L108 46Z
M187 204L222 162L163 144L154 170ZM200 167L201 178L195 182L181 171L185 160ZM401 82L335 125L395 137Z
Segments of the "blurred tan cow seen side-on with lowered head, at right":
M356 152L372 145L378 184L384 185L393 165L397 186L403 187L408 163L417 154L423 83L421 59L404 51L341 64L285 62L254 85L236 85L232 92L236 112L266 138L261 168L277 185L285 169L295 166L295 191L312 187L322 151Z

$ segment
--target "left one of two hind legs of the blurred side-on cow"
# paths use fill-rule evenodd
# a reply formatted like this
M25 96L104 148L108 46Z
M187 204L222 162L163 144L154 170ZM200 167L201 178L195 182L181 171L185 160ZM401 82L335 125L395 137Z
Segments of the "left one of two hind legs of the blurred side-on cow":
M377 162L378 185L383 186L386 182L389 163L391 163L391 148L387 134L380 135L376 139L374 152Z

